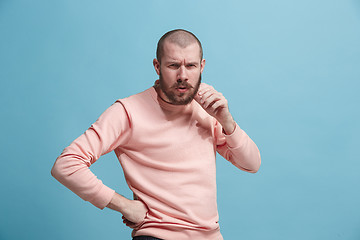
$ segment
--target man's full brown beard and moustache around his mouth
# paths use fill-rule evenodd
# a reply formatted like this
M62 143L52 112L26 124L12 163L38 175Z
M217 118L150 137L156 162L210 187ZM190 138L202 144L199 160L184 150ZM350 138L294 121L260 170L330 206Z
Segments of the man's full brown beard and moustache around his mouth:
M159 86L161 91L165 94L165 96L169 99L169 103L174 105L187 105L189 104L195 97L196 93L199 90L201 83L201 73L199 75L199 79L195 86L192 86L187 81L178 80L172 86L168 86L165 83L164 78L162 77L161 71L159 74ZM177 88L186 88L187 91L184 93L178 93Z

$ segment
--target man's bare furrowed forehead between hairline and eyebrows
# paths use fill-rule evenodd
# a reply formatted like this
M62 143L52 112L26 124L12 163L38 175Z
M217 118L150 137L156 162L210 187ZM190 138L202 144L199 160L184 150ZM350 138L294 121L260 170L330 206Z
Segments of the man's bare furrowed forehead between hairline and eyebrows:
M177 60L177 61L200 61L200 47L194 42L186 47L181 47L176 43L165 41L163 52L163 59L165 61Z

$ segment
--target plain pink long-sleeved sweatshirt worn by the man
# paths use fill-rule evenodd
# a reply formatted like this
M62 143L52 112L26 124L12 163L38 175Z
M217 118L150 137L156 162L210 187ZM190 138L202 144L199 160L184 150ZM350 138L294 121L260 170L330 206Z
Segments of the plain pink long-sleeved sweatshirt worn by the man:
M216 203L216 151L244 171L256 172L260 166L258 148L238 125L234 133L224 135L196 101L167 104L153 87L111 105L64 149L52 175L103 209L114 190L89 167L113 150L129 188L149 209L133 236L223 239Z

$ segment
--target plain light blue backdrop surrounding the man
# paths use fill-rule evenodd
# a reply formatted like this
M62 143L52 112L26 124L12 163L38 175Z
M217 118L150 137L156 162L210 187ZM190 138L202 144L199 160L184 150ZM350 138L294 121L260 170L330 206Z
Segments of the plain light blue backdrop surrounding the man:
M260 148L218 158L225 239L360 239L360 1L0 1L0 239L130 239L50 175L116 99L150 87L158 39L203 43L204 82ZM115 154L91 168L131 197Z

